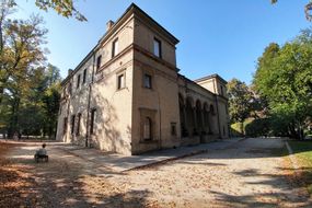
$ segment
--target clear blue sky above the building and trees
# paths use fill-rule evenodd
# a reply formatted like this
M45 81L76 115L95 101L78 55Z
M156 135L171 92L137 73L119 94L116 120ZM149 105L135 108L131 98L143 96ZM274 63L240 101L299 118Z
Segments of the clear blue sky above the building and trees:
M117 20L131 2L180 39L180 73L195 80L218 73L224 80L252 82L257 58L269 43L280 45L311 26L308 0L77 0L88 22L38 10L35 0L16 0L14 18L38 13L45 20L48 61L62 78L74 69L103 36L108 20Z

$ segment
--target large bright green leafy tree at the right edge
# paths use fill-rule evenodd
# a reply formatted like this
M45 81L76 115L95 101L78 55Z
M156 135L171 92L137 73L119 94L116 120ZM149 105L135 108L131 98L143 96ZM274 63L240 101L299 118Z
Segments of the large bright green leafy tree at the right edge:
M268 101L275 130L300 139L312 112L311 34L305 30L282 47L270 44L254 77L256 90Z

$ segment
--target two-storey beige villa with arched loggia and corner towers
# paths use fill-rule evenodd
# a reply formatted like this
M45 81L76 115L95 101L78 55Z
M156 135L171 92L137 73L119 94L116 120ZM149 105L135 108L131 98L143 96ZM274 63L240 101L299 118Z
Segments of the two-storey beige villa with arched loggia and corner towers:
M57 139L123 154L229 137L227 82L178 73L178 39L136 4L62 81Z

